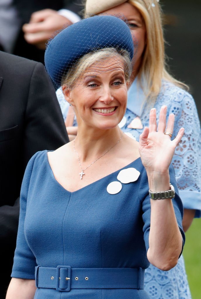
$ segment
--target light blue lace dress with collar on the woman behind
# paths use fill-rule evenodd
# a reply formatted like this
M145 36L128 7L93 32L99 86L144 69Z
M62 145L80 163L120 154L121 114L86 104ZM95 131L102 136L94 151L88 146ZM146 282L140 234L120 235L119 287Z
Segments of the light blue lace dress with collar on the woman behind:
M59 102L65 105L65 109L61 106L65 118L68 104L62 98L61 96ZM129 129L127 126L137 116L143 127L148 126L152 106L144 104L144 100L143 90L135 80L128 91L127 110L120 127L137 141L143 129ZM175 138L180 127L185 128L172 164L184 208L195 209L195 217L201 217L201 132L194 100L188 92L163 81L161 91L153 105L157 111L157 120L162 105L168 106L167 115L170 113L175 115L172 138ZM76 125L76 119L73 125ZM145 290L151 299L191 299L183 257L179 258L176 267L170 271L161 271L150 265L145 271Z

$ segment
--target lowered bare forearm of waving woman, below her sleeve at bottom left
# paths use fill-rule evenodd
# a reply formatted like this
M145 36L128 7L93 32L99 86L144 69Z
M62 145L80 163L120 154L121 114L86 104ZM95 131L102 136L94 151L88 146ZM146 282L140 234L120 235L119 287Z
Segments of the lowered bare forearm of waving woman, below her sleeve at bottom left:
M35 280L12 278L6 299L33 299L36 292Z

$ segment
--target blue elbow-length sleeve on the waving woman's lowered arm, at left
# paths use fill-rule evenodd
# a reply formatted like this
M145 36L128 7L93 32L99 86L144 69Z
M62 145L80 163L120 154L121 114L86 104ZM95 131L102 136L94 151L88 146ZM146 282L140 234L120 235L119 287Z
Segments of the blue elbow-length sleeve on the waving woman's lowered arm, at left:
M29 192L31 173L35 158L38 153L39 152L33 155L33 157L28 162L20 192L19 226L17 233L16 250L14 255L13 270L11 273L11 277L16 278L35 279L34 272L35 267L37 266L36 258L27 244L24 233L24 222L26 216L27 196Z

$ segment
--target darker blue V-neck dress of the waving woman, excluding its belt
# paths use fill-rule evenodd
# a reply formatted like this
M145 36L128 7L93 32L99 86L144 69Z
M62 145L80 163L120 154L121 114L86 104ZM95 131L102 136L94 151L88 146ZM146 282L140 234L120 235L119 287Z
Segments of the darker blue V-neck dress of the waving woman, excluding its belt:
M123 169L129 167L136 168L140 176L134 182L122 184L117 194L109 194L107 186L118 181L120 170L80 190L69 192L54 178L47 151L36 153L28 163L22 183L19 229L11 276L34 279L36 266L147 268L150 229L147 174L140 158ZM176 186L172 166L170 180ZM173 205L184 240L181 228L183 207L177 188ZM75 284L75 277L71 275L71 279L71 283ZM121 277L116 280L121 283ZM143 289L83 288L61 292L44 287L37 288L34 296L34 299L61 298L150 297Z

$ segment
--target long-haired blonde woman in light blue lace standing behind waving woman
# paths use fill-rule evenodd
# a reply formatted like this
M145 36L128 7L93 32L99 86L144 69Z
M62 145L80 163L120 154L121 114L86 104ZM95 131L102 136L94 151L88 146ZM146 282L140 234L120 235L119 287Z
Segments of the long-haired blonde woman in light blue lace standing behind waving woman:
M172 164L184 206L182 224L184 231L187 231L193 218L201 216L200 121L194 99L184 90L186 86L171 77L165 68L159 3L155 0L87 0L86 14L99 13L125 16L138 40L127 110L120 123L122 131L139 141L141 132L149 123L150 108L156 108L158 120L162 105L167 105L167 115L175 115L175 132L181 126L185 127L184 137L176 148ZM66 119L68 103L60 90L57 90L57 98ZM72 125L74 128L67 129L70 135L76 132L76 118ZM150 265L145 271L145 289L153 299L190 299L183 257L181 256L177 266L168 272Z

